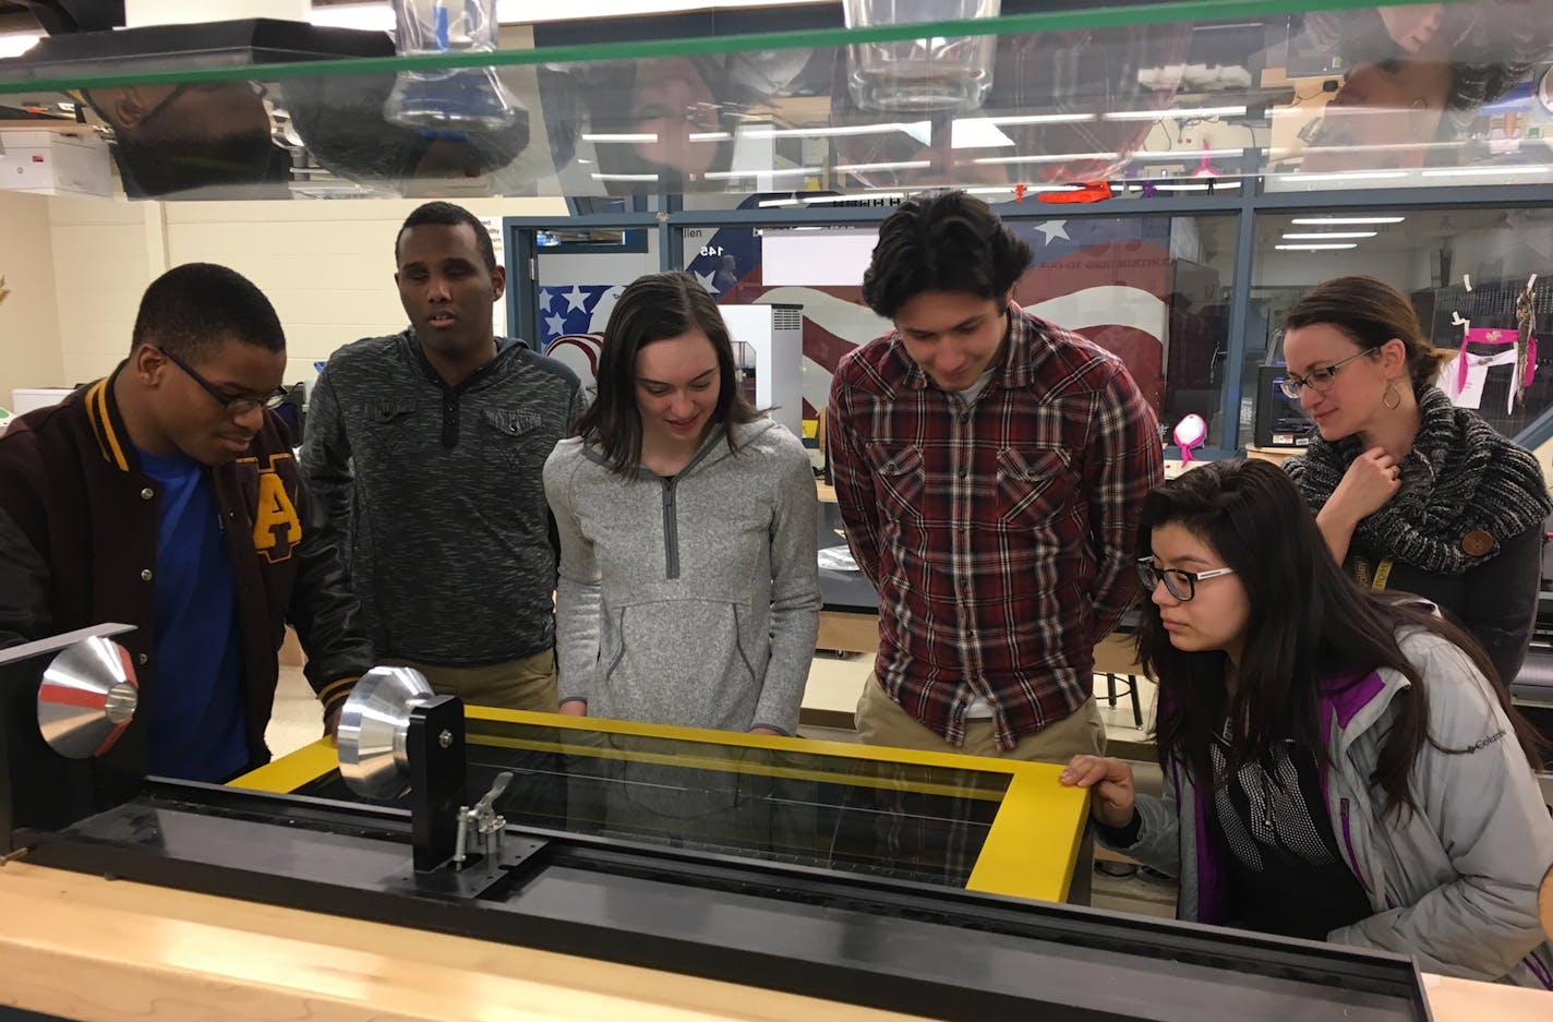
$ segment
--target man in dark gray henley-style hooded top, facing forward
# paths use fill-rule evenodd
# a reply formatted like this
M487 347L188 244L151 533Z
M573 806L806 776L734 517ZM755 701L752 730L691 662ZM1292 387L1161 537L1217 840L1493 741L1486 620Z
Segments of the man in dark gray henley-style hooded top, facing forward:
M556 710L556 541L540 472L581 385L495 337L505 275L485 227L418 208L394 247L412 328L334 353L314 387L301 466L346 536L380 657L439 693Z

